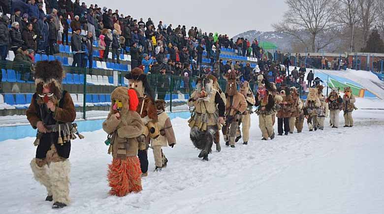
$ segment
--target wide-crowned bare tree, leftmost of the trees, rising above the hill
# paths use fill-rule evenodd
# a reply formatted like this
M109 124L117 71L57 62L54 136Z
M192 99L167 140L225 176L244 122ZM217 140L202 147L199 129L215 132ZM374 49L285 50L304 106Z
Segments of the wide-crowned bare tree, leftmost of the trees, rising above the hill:
M331 30L338 8L336 0L286 0L285 2L289 8L284 14L284 20L272 25L276 31L294 36L307 47L309 46L313 52L319 51L332 42L328 40L325 44L318 44L317 37Z

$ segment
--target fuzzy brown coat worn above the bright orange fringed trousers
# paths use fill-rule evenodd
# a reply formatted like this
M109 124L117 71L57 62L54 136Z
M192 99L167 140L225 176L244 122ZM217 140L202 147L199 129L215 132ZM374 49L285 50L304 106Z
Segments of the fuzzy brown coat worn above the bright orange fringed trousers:
M112 135L109 151L112 151L113 158L118 157L119 147L126 148L125 155L136 156L139 149L137 137L139 137L144 129L144 124L141 121L140 115L131 110L122 110L120 119L116 119L111 113L103 122L103 130Z

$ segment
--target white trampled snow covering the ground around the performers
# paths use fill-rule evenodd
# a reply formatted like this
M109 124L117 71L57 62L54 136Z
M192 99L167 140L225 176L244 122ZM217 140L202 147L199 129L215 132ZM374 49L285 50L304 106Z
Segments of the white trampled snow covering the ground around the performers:
M358 99L360 108L371 100ZM384 104L376 100L377 105ZM344 123L340 113L340 125ZM45 189L32 178L34 138L0 142L1 214L383 214L384 111L358 109L353 128L276 136L261 141L252 114L251 140L226 147L202 162L189 140L187 121L172 120L178 143L164 148L169 162L149 176L143 191L123 198L108 195L111 162L102 130L82 133L70 156L72 204L60 211L45 202ZM275 125L275 132L277 131ZM215 145L213 146L213 148Z

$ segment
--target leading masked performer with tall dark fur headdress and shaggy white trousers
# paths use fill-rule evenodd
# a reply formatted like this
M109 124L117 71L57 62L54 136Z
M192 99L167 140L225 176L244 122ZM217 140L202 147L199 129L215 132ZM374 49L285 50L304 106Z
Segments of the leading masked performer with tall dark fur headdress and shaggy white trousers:
M34 178L47 188L46 201L53 209L70 203L70 140L76 138L72 122L76 111L68 92L63 90L63 67L59 61L40 61L35 68L36 93L27 109L27 119L38 129L36 157L31 161Z

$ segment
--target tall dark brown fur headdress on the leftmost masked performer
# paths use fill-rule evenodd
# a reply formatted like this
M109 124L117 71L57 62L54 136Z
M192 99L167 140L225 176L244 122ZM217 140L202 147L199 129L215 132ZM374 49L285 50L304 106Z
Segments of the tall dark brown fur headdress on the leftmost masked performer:
M57 99L62 97L63 66L60 61L39 61L36 63L34 84L36 92L43 93L44 87L49 87Z

